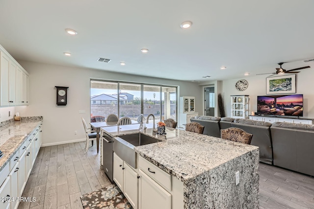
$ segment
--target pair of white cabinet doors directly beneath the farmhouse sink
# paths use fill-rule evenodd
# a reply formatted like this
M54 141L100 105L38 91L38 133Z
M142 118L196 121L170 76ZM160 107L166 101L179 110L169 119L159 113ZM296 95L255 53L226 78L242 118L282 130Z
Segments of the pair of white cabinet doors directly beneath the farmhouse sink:
M131 166L113 153L113 181L124 193L133 209L137 209L138 174Z

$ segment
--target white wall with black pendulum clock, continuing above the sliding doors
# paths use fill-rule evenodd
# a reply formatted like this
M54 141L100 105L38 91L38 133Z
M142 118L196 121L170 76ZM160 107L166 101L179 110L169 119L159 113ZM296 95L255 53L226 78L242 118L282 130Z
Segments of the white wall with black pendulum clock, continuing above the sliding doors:
M86 122L90 121L90 78L176 85L180 86L180 96L195 96L197 101L202 101L202 89L193 82L26 61L19 61L19 63L29 72L29 105L15 107L15 111L19 112L20 116L44 117L44 145L84 139L81 116L85 118ZM164 77L167 77L167 75L164 75ZM55 86L69 87L68 104L66 106L56 105ZM86 113L79 114L79 110L85 110ZM201 110L202 102L198 102L196 111L201 112ZM2 118L0 119L3 121ZM77 135L74 134L75 131L78 132Z

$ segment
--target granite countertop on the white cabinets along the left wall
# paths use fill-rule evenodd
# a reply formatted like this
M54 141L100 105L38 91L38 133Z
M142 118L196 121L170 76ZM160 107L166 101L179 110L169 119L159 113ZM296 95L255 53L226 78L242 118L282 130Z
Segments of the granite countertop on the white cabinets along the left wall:
M21 121L4 121L0 123L0 171L9 163L31 132L42 122L42 116L21 117Z

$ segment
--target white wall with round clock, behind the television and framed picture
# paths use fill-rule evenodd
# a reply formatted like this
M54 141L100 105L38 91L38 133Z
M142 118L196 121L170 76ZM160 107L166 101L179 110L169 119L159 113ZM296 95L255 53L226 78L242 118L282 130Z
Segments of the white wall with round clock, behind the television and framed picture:
M235 83L240 79L224 80L222 85L222 93L225 101L225 111L227 116L231 116L230 95L249 95L249 115L251 112L257 111L257 96L266 95L266 76L243 77L248 81L248 88L243 91L235 89ZM313 80L314 70L306 69L296 74L296 93L303 94L303 117L314 118L314 90Z

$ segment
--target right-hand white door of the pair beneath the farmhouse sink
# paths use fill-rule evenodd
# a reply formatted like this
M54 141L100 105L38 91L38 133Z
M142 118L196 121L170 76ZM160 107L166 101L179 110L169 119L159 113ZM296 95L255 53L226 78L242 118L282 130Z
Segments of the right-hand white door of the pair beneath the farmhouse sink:
M130 165L128 165L128 163L124 163L124 168L123 193L129 200L133 209L137 209L138 174Z

